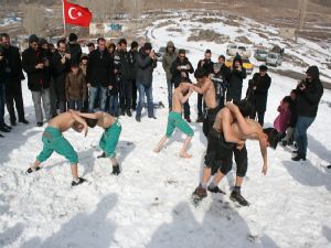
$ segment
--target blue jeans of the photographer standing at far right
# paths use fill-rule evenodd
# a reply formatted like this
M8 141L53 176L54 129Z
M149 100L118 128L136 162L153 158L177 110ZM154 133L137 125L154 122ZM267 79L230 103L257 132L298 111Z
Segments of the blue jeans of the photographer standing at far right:
M298 154L306 157L307 154L307 129L314 121L314 117L298 116L298 121L295 130L295 140L298 145Z

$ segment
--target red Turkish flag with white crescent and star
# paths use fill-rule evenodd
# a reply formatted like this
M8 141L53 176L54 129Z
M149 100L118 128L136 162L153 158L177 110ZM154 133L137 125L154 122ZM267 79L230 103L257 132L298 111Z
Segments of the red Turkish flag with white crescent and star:
M92 13L85 7L63 0L63 15L65 24L89 26Z

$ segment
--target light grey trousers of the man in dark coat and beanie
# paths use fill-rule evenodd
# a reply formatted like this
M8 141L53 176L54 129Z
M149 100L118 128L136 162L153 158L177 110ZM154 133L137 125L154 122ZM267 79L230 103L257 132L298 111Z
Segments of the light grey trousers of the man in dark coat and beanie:
M51 103L50 103L50 89L42 89L41 91L31 91L32 100L35 111L36 123L43 122L43 111L41 108L41 101L43 101L43 108L46 116L46 120L51 119Z

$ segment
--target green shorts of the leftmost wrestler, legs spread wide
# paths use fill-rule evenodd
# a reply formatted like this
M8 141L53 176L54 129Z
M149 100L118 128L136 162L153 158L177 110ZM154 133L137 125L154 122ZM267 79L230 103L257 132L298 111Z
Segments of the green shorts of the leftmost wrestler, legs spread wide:
M55 151L56 153L65 157L70 163L78 163L77 152L74 150L72 144L63 137L62 132L57 128L46 127L43 133L43 150L36 157L39 162L46 161L52 153Z

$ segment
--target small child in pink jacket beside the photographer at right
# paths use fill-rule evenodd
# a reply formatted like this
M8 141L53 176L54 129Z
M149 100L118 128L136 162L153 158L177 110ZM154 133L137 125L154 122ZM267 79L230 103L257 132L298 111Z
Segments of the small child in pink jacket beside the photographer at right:
M278 117L274 121L274 128L279 132L280 138L284 138L286 134L286 130L289 127L291 120L291 111L290 111L290 96L284 97L280 101L280 106L278 107Z

